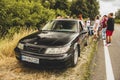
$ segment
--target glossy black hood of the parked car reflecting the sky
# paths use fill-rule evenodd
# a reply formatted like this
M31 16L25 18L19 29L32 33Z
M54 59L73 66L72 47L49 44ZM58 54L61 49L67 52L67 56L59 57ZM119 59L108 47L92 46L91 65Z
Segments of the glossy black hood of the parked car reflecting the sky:
M43 46L62 46L72 42L79 34L72 32L47 32L42 31L27 36L23 42Z

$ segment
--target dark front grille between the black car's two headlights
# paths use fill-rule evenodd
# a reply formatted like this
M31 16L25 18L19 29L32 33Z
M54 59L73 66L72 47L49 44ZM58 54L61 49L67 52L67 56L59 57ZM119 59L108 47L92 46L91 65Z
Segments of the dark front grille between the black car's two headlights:
M25 46L24 51L33 52L33 53L44 53L45 48L33 47L33 46Z

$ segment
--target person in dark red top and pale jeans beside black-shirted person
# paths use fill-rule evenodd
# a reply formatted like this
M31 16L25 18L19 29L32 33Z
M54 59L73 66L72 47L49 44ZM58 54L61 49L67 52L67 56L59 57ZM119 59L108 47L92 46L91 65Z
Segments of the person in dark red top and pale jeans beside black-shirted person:
M102 39L106 39L107 15L104 15L101 21L102 26Z

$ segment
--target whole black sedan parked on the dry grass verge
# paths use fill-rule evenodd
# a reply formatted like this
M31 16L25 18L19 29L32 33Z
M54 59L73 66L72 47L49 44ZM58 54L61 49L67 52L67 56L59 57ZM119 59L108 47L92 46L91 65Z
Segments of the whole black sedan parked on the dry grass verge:
M15 55L23 63L75 66L81 49L87 45L87 37L80 20L52 20L41 30L22 38Z

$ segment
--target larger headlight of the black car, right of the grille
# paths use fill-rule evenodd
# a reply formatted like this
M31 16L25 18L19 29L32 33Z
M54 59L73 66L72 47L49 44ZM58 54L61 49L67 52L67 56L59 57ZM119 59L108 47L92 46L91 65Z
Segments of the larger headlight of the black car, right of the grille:
M69 46L67 47L62 47L62 48L48 48L46 50L46 54L58 54L58 53L65 53L70 49Z

